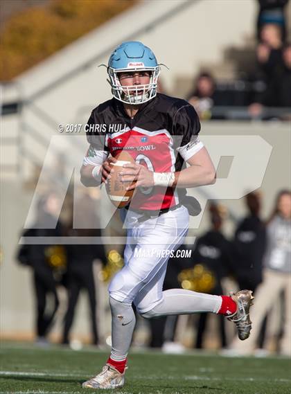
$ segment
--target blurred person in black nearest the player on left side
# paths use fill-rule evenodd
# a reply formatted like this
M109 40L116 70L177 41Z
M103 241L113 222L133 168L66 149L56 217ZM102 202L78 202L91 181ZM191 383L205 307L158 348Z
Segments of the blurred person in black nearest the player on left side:
M78 229L73 229L73 222ZM86 228L88 227L88 229ZM91 342L98 344L98 330L96 324L96 290L94 281L94 260L98 259L103 264L106 262L105 249L95 238L101 236L100 221L96 213L96 199L89 195L87 190L75 202L74 216L67 231L71 237L80 237L85 244L78 240L67 245L67 292L68 305L64 316L64 330L62 343L69 344L70 331L75 316L76 305L80 291L84 289L89 298L91 320ZM95 241L95 242L94 242Z

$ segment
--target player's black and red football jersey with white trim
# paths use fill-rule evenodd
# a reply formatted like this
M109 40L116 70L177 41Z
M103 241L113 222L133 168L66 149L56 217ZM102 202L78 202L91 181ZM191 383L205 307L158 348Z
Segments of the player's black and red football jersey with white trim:
M158 93L139 105L134 118L123 103L112 98L98 105L85 126L90 143L87 163L94 163L96 151L116 156L127 150L136 163L154 172L177 172L203 146L197 138L200 120L185 100ZM132 209L157 210L179 204L173 188L139 188L130 204Z

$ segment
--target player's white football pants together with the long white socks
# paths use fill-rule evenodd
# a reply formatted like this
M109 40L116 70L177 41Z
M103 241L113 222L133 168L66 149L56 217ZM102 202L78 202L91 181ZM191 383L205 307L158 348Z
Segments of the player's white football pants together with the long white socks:
M140 214L128 211L125 266L109 285L112 310L110 357L125 360L132 341L136 310L145 319L168 314L218 313L220 296L185 289L163 292L168 258L183 242L188 231L188 210L181 206L159 217L139 222ZM175 260L172 262L175 264Z

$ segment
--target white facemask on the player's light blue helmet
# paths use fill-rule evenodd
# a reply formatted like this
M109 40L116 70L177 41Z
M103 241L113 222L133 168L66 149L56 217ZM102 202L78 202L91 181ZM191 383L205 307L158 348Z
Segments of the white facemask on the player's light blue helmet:
M127 68L127 69L113 69L108 67L109 83L112 87L113 96L125 104L139 105L147 102L157 95L157 80L159 78L160 67L143 67L143 68ZM148 84L123 86L119 80L119 73L126 72L149 71L150 82Z

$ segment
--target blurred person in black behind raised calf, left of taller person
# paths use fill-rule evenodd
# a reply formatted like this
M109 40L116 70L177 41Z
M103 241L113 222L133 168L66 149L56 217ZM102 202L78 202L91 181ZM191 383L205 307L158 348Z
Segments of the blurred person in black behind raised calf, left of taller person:
M197 239L195 249L192 254L192 261L195 265L202 265L213 276L213 287L209 294L223 294L222 278L229 274L231 263L231 244L221 232L223 224L223 212L215 204L209 207L211 230ZM197 338L195 347L203 348L204 332L209 314L200 314L197 328ZM224 328L224 320L218 316L220 327L221 347L227 346L227 338Z

